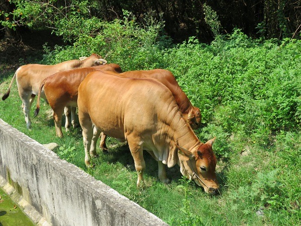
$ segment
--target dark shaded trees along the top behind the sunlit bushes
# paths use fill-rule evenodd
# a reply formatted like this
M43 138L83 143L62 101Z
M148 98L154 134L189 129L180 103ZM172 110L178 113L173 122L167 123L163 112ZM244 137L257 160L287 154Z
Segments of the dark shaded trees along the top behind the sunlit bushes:
M301 32L301 2L294 0L0 0L0 36L1 26L17 30L19 35L26 26L39 30L54 28L54 32L59 32L61 26L69 26L71 30L80 23L77 19L95 17L113 21L122 18L123 10L126 10L132 12L139 23L143 23L149 13L157 19L163 17L165 31L176 41L196 36L208 43L213 40L214 33L204 20L210 15L207 5L217 12L222 34L239 28L249 37L282 39L298 37ZM18 35L10 29L5 33Z

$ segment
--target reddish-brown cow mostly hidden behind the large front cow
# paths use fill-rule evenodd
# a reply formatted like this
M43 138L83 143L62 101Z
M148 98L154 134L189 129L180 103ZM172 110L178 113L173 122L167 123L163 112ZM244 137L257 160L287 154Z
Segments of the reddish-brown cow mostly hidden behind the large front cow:
M187 120L191 128L196 130L201 126L200 109L192 105L187 95L183 92L183 90L179 86L175 76L169 70L154 69L148 71L126 71L121 73L121 75L125 77L131 77L131 78L158 79L161 83L166 85L166 87L168 87L172 91L174 98L178 106L180 107L184 119ZM106 135L102 133L99 147L106 152L108 149L105 144L105 139L106 139Z

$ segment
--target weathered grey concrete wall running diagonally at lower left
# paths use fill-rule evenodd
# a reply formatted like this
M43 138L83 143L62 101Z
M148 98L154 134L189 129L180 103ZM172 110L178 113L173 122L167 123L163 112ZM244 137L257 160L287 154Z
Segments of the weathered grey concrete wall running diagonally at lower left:
M0 185L42 225L167 225L1 119Z

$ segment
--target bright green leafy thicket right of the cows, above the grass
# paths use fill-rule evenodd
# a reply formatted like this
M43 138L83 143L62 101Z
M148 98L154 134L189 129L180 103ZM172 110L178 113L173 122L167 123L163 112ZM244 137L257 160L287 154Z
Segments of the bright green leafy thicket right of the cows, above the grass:
M168 55L176 66L170 70L191 101L203 108L204 122L220 119L225 107L231 123L221 120L228 131L235 131L237 124L251 131L262 126L273 131L299 128L301 43L258 43L236 30L223 45L220 50L188 42Z

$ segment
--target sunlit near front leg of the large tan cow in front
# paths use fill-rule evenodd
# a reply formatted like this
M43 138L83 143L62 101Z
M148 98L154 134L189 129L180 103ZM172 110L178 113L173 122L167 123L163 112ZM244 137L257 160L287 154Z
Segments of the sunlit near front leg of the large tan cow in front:
M145 162L143 158L143 142L135 135L126 136L130 153L134 159L135 168L138 173L137 187L143 186L143 172L145 169Z

